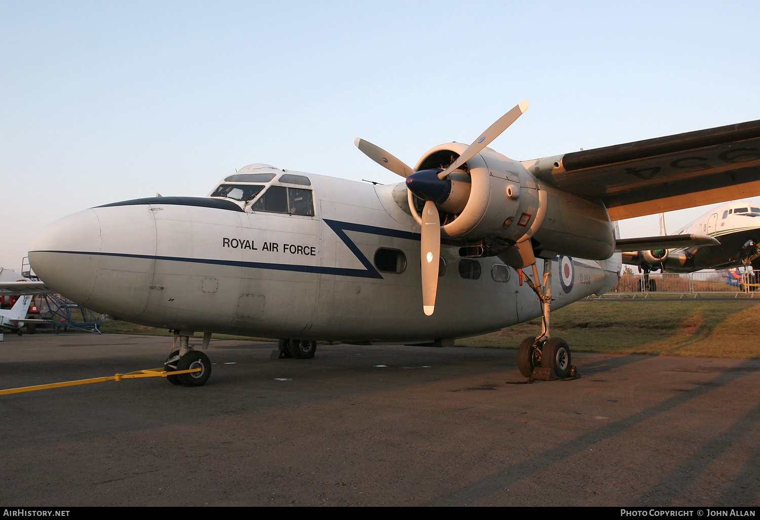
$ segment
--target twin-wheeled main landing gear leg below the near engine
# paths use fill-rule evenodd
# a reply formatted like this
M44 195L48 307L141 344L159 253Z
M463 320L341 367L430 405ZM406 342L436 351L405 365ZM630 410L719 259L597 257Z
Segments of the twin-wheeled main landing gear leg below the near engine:
M575 367L571 364L570 347L561 338L549 337L549 311L552 302L552 260L543 260L543 283L538 282L538 269L534 262L534 281L529 276L525 282L536 293L541 304L541 335L526 338L518 350L518 368L524 377L553 380L575 377Z

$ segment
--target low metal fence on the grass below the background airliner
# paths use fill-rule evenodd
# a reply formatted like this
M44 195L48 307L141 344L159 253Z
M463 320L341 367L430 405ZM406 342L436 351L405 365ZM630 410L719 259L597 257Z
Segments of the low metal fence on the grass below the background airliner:
M654 295L679 295L698 298L700 295L723 295L734 298L760 298L760 275L736 271L700 271L698 273L660 273L622 275L612 291L589 298L649 298Z

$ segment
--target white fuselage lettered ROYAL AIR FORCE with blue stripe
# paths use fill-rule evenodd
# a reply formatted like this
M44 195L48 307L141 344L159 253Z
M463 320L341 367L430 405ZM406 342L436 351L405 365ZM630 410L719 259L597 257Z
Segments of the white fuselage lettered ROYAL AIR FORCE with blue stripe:
M274 175L254 184L230 176L209 197L74 213L34 238L30 263L92 310L183 331L433 342L540 316L517 270L498 257L462 258L467 244L444 238L435 313L426 317L420 226L403 185L256 171ZM606 292L618 279L619 254L554 260L553 308Z

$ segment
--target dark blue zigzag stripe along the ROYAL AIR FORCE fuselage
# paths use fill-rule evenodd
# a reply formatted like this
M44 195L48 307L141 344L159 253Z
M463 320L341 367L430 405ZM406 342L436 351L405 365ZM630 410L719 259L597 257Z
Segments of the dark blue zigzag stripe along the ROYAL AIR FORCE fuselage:
M349 250L356 256L356 260L362 263L365 269L348 269L346 267L325 267L325 266L303 266L290 263L267 263L267 262L243 262L239 260L213 260L207 258L188 258L188 257L163 257L151 254L129 254L129 253L101 253L94 251L32 251L34 253L62 253L62 254L87 254L101 257L122 257L122 258L142 258L145 260L166 260L169 262L188 262L188 263L207 263L217 266L236 266L249 267L252 269L275 269L278 271L294 271L296 273L317 273L336 276L356 276L358 278L382 279L372 262L359 251L359 247L353 243L346 231L367 233L369 235L384 235L395 238L405 238L407 240L420 241L420 233L399 231L396 229L378 228L373 225L354 224L352 222L339 222L337 220L324 219L325 223L335 232L335 235L346 244ZM452 240L443 240L445 244L459 245L460 242Z

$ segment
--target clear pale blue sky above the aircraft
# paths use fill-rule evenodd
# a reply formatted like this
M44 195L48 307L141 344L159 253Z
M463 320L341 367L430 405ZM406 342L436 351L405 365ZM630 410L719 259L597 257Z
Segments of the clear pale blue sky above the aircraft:
M491 145L520 160L760 119L758 20L756 1L0 0L0 266L69 213L204 196L252 162L397 182L354 137L414 164L522 99Z

